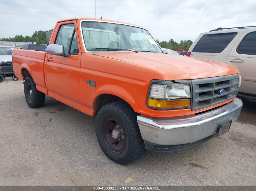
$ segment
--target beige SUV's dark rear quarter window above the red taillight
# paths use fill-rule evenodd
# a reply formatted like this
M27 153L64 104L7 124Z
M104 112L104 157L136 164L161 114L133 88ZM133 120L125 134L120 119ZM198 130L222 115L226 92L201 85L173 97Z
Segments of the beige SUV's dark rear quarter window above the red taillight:
M204 34L198 43L196 43L192 52L221 53L236 35L236 32Z

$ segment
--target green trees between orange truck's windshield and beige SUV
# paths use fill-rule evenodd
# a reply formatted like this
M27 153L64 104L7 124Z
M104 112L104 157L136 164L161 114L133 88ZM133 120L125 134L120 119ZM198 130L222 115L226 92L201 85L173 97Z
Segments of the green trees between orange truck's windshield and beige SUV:
M177 43L173 39L169 40L168 42L166 41L160 42L158 39L156 39L156 41L162 48L168 48L168 49L189 49L193 43L192 40L181 40L180 43Z

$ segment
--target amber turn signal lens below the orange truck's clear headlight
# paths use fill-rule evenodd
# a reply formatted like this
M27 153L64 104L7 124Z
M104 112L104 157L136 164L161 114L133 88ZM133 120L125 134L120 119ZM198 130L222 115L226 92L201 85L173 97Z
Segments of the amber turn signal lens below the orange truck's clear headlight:
M148 106L156 108L177 108L177 107L189 107L190 99L184 100L153 100L148 99Z

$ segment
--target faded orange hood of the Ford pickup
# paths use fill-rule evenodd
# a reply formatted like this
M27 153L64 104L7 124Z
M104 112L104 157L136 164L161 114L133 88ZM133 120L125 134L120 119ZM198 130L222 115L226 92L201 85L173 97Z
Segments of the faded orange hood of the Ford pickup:
M238 69L221 62L162 53L97 53L111 59L139 65L162 75L165 80L189 80L239 73Z

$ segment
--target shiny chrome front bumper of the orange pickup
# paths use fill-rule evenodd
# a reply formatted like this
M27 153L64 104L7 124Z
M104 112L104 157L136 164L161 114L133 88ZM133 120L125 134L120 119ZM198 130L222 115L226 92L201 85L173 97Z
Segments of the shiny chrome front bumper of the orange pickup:
M177 119L152 119L137 116L146 149L156 152L178 151L198 145L218 134L222 123L234 122L243 103L240 99L195 116Z

